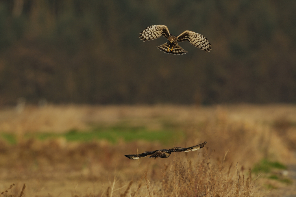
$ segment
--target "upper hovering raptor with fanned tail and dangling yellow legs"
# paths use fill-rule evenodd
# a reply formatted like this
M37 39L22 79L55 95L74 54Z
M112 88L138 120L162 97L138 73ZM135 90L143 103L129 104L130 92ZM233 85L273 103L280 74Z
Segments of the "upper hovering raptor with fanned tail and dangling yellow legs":
M178 42L184 41L189 41L190 44L197 48L200 48L201 50L204 50L205 52L210 52L210 50L212 50L212 45L209 43L207 38L193 31L186 30L180 35L176 36L170 34L170 32L168 31L168 27L165 25L151 25L145 28L144 31L142 31L140 34L141 35L139 36L139 38L141 38L141 40L144 40L144 42L147 40L160 38L161 36L168 39L167 43L157 46L157 48L164 53L170 53L174 55L182 55L188 53L188 51L185 51L184 49L182 49L181 46L178 45Z

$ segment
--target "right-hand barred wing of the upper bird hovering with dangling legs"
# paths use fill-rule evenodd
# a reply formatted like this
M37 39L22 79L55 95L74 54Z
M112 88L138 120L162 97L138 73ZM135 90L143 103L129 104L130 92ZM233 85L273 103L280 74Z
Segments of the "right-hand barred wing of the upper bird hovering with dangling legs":
M199 33L195 33L193 31L184 31L180 35L178 35L178 42L189 41L193 46L204 50L205 52L210 52L211 44L207 40L207 38Z

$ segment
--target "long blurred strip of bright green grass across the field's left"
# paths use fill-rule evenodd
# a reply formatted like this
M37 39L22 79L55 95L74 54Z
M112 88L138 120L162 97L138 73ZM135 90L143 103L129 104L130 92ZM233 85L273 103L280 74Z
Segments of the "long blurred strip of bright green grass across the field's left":
M14 134L2 133L1 138L10 144L17 143ZM118 140L124 141L159 141L163 144L170 144L180 141L185 134L181 131L173 129L164 130L148 130L145 127L128 127L127 125L116 125L114 127L97 127L93 130L79 131L72 129L67 133L27 133L25 139L36 138L39 140L65 138L67 141L94 141L107 140L112 143L117 143Z

